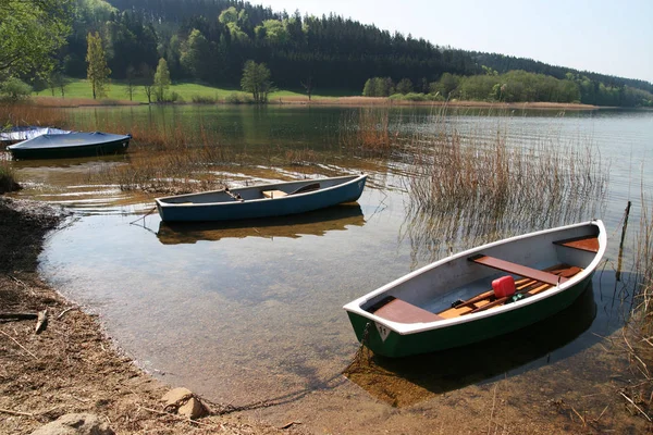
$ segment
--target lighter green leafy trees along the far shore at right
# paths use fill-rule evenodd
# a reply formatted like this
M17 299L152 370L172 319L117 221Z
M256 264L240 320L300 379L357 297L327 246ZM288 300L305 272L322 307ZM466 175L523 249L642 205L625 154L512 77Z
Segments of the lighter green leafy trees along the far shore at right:
M373 77L366 82L367 97L408 96L412 100L476 100L501 102L583 102L596 105L653 107L653 95L629 86L605 86L587 76L568 73L565 79L550 75L509 71L498 74L489 67L485 74L459 76L444 73L430 84L414 84L401 79L396 86L391 77ZM416 95L417 94L417 95ZM421 95L421 96L420 96Z

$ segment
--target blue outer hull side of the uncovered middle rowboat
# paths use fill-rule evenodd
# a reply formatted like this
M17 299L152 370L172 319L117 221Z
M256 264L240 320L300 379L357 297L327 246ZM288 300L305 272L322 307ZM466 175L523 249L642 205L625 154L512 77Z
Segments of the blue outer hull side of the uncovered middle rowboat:
M316 181L319 182L319 181ZM218 203L169 203L157 199L157 209L164 222L211 222L261 219L306 213L360 198L366 176L328 189L275 199L254 199ZM307 182L308 183L308 182ZM281 185L260 186L275 188ZM237 189L233 190L234 192Z

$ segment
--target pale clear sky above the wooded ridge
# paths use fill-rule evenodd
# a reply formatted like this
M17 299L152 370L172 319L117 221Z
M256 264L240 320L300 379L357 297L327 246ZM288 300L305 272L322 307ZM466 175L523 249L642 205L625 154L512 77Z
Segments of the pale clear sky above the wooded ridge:
M653 83L653 0L249 0L331 12L433 45Z

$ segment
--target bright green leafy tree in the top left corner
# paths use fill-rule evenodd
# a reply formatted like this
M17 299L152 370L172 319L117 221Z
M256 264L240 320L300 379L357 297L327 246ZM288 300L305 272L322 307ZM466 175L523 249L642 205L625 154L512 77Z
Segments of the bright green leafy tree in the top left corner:
M72 17L73 0L0 0L0 75L47 75Z

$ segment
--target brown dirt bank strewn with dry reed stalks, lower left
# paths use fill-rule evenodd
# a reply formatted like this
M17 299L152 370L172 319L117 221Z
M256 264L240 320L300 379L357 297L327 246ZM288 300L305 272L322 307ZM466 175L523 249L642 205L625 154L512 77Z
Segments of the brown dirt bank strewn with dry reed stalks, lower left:
M60 210L0 197L0 312L49 311L47 328L36 321L0 321L0 434L28 434L71 412L91 412L121 433L301 433L243 418L214 415L197 423L162 412L170 388L121 356L93 315L71 306L44 283L37 258L44 237L65 220Z

